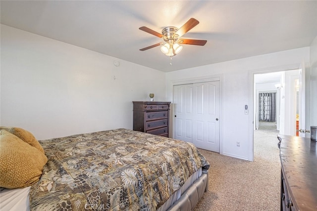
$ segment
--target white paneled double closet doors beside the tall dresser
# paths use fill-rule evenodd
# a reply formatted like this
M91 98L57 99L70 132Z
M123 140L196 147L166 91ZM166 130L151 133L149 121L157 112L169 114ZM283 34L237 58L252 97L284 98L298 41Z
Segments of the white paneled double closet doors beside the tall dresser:
M220 82L174 86L174 138L219 152Z

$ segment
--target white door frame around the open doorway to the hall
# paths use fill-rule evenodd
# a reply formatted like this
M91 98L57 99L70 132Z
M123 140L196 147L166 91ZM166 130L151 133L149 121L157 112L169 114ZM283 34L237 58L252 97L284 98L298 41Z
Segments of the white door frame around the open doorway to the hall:
M267 67L267 68L261 68L261 69L254 69L249 70L248 77L249 77L249 119L248 119L248 142L249 142L249 148L248 148L248 160L253 161L254 160L254 122L255 122L255 115L254 115L254 75L255 74L263 74L263 73L271 73L271 72L280 72L280 71L287 71L287 70L293 70L293 69L299 69L301 63L295 63L295 64L289 64L289 65L283 65L283 66L275 66L275 67Z

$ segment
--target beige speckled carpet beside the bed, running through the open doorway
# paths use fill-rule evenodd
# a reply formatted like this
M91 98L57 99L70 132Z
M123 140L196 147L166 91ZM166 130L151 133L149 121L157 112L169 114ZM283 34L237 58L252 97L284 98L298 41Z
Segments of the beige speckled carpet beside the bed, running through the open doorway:
M260 122L254 131L254 161L201 153L211 163L209 192L195 211L278 211L280 159L275 123Z

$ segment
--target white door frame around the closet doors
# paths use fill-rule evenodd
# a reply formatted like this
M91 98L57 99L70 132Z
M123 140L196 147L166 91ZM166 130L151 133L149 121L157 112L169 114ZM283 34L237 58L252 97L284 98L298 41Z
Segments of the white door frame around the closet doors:
M169 131L172 131L172 133L170 133L170 135L172 135L172 137L170 138L173 138L173 134L174 134L174 130L173 130L173 125L174 125L174 118L173 116L175 115L174 114L174 86L175 85L185 85L185 84L194 84L194 83L204 83L204 82L211 82L211 81L219 81L220 83L220 92L219 92L219 98L220 98L220 116L219 116L219 119L220 119L220 122L219 122L219 154L222 155L223 154L223 111L222 111L222 105L223 105L223 99L222 99L222 78L223 78L223 75L222 74L215 74L215 75L207 75L207 76L201 76L201 77L192 77L192 78L184 78L184 79L179 79L179 80L172 80L171 81L171 98L172 99L172 102L171 102L171 109L172 109L172 112L169 112L170 113L170 124L169 124Z

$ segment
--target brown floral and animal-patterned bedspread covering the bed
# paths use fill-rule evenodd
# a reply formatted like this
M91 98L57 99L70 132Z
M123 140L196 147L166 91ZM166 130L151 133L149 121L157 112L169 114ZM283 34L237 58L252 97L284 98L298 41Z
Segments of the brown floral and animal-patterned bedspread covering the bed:
M115 129L39 141L48 157L30 210L157 210L209 162L187 142Z

